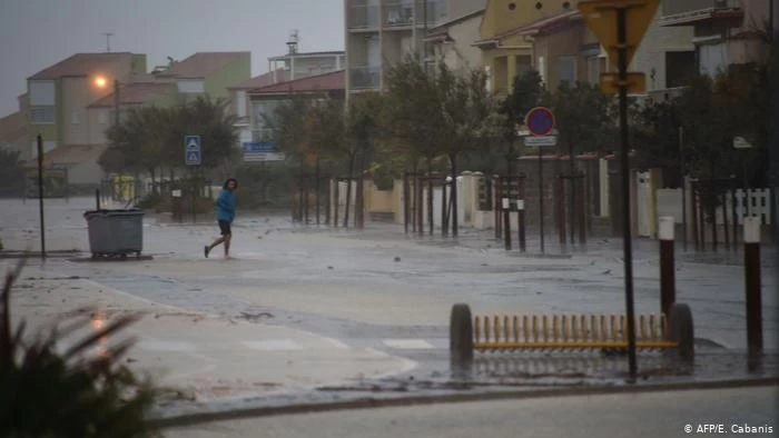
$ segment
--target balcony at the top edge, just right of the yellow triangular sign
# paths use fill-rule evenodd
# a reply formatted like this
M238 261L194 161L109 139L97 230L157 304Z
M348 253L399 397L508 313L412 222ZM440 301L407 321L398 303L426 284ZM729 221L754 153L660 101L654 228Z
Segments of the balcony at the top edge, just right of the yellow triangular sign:
M662 0L661 26L690 26L716 18L741 17L740 0Z

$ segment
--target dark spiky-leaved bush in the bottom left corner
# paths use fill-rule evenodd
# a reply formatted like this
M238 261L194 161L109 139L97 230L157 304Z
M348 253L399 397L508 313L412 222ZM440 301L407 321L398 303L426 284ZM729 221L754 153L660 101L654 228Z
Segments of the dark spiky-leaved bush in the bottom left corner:
M0 295L0 437L159 437L145 418L155 391L119 365L132 340L95 357L87 355L100 339L138 317L117 318L62 355L55 350L56 342L89 327L89 317L73 319L46 337L39 334L28 341L23 320L11 329L11 287L21 268L19 263L8 272Z

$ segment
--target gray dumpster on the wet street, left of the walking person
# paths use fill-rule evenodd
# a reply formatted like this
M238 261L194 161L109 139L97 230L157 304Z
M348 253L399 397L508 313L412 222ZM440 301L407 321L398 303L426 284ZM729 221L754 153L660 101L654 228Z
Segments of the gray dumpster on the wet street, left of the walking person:
M83 213L89 230L92 258L121 257L144 250L144 211L91 210Z

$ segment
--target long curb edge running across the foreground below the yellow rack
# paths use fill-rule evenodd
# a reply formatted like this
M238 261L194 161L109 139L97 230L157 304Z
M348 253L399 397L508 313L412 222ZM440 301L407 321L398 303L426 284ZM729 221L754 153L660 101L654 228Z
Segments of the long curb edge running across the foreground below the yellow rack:
M191 426L214 421L238 420L246 418L268 417L274 415L331 412L346 409L389 408L410 405L434 405L467 401L494 401L511 399L529 399L543 397L570 397L570 396L598 396L611 394L641 394L660 392L671 390L694 389L728 389L751 388L765 386L779 386L779 377L750 379L750 380L716 380L716 381L689 381L681 384L658 384L647 386L620 386L620 387L565 387L558 389L532 389L525 391L509 390L500 392L481 394L450 394L435 396L412 396L400 398L357 398L348 401L336 402L308 402L287 406L246 408L220 412L185 414L176 417L156 418L149 421L160 428Z

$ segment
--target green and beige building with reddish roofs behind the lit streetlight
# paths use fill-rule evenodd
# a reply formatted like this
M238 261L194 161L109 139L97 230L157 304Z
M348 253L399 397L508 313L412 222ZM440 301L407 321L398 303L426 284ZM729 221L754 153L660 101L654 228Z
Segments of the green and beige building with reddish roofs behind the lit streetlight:
M29 108L27 157L37 157L40 135L47 166L67 168L70 183L97 183L103 176L97 160L108 147L105 132L115 123L117 108L121 118L131 108L195 94L227 98L229 84L249 77L249 52L198 52L152 74L146 54L73 54L28 78L20 101L20 108Z

